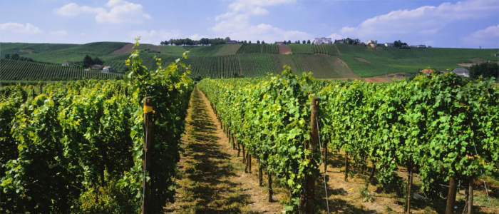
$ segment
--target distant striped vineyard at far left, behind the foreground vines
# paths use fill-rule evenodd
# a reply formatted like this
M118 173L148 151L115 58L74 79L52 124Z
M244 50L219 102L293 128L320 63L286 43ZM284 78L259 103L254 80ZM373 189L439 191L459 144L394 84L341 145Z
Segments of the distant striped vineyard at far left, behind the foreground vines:
M117 79L122 78L122 75L118 73L103 73L94 69L85 71L84 68L63 67L46 63L9 59L0 60L0 80L3 81L59 81L78 80L82 78Z

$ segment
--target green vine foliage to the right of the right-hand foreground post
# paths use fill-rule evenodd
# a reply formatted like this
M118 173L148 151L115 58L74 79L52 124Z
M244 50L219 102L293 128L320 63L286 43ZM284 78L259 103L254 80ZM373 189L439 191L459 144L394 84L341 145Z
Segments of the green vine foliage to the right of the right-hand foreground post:
M389 84L332 81L319 96L328 146L360 165L370 158L384 188L398 182L398 165L416 170L430 196L438 196L439 184L451 177L498 170L499 91L493 81L454 73Z

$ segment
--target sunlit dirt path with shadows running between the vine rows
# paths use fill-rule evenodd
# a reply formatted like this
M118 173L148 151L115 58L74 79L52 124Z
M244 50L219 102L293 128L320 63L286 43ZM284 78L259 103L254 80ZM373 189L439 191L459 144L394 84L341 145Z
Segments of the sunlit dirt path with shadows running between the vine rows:
M166 213L281 213L279 202L267 202L257 175L244 172L241 158L235 156L237 151L197 88L192 92L182 145L175 203L166 205Z

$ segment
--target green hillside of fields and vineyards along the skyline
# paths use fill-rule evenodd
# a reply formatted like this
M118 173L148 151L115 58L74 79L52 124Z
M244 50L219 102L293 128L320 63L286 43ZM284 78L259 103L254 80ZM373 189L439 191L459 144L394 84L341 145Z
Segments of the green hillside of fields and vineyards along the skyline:
M123 42L96 42L90 44L25 44L1 43L1 57L19 54L34 61L63 63L82 61L90 55L99 57L104 66L113 66L120 72L128 71L125 59L133 45ZM438 70L461 67L459 63L498 61L497 49L396 49L352 45L289 44L291 55L280 55L275 44L223 44L214 46L155 46L141 44L138 49L143 64L156 68L154 57L170 63L188 54L187 64L192 76L233 77L264 76L276 73L287 65L295 73L312 71L317 78L357 78L389 73L414 73L423 68ZM470 66L463 65L463 66ZM0 77L4 78L4 77Z

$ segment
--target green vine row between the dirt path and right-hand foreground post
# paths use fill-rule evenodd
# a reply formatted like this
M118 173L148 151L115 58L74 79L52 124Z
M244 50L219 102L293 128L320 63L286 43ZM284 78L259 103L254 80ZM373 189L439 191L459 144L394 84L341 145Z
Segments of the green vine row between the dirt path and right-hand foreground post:
M249 153L289 188L288 208L297 210L305 175L317 175L317 154L304 149L309 141L309 75L295 76L289 67L282 74L258 79L202 80L222 120Z

